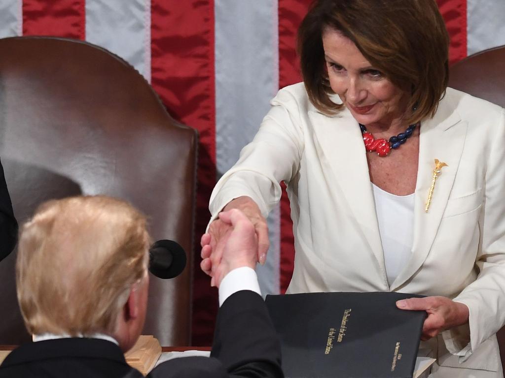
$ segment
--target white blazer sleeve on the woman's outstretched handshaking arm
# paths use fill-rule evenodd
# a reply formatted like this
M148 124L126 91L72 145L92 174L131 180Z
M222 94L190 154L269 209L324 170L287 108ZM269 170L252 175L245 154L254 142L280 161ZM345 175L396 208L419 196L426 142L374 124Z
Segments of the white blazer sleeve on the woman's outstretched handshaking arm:
M266 217L280 200L279 183L289 182L296 174L304 149L299 104L289 91L280 90L271 105L254 140L216 184L210 203L212 219L240 196L252 198Z

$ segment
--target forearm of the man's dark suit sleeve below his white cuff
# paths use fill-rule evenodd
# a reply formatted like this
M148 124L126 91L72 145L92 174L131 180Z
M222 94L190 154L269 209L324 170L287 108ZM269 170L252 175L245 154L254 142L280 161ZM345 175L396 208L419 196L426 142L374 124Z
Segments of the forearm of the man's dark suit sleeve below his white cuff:
M211 357L229 376L283 377L281 350L263 298L249 290L231 295L220 307Z

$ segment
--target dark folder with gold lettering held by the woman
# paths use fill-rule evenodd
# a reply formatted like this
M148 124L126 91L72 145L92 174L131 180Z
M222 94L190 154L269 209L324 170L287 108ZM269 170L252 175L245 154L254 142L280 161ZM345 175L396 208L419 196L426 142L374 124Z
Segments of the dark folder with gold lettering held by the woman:
M426 311L400 310L414 294L267 295L287 378L412 378Z

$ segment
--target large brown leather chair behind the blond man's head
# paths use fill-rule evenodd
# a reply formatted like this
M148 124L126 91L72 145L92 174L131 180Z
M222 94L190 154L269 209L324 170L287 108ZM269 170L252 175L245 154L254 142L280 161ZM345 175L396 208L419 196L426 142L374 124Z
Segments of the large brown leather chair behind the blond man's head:
M151 276L146 325L189 345L197 133L177 123L129 64L89 43L0 39L0 156L16 218L42 201L106 194L144 212L151 235L179 242L184 272ZM15 253L0 263L0 344L30 337L19 313Z

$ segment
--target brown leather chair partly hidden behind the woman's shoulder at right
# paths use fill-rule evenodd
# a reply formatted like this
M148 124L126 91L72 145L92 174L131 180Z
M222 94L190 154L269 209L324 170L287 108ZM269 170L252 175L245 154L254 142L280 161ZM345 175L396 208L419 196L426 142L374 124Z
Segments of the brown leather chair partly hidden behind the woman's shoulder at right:
M505 46L470 55L452 66L449 87L505 107ZM496 336L505 366L505 327Z

